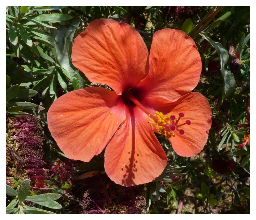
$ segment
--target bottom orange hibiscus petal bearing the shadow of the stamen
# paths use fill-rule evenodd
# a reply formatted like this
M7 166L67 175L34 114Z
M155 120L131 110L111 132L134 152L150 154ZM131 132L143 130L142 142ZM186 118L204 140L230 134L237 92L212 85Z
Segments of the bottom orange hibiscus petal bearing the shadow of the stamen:
M163 172L167 156L147 124L148 116L138 107L126 114L105 150L105 171L123 186L148 183Z

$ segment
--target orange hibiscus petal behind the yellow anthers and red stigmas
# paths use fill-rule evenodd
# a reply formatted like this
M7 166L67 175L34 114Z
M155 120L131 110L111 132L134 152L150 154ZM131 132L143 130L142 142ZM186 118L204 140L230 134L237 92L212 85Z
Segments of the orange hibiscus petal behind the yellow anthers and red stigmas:
M184 131L184 134L175 130L173 132L175 137L169 139L172 148L178 155L193 156L204 148L212 125L212 111L207 99L202 94L188 93L176 102L169 102L162 97L146 97L143 104L152 114L157 110L163 114L170 113L170 115L179 118L179 114L183 113L184 116L180 118L178 124L190 122L190 124L188 122L189 125L185 124L179 127ZM156 132L157 129L155 128L154 131Z

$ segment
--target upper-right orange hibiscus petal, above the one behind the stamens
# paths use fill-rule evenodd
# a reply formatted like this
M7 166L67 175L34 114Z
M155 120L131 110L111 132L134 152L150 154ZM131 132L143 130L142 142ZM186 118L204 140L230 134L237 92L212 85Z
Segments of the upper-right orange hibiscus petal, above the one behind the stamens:
M149 67L147 77L139 84L143 95L175 101L196 87L202 62L195 42L187 34L167 28L153 35Z

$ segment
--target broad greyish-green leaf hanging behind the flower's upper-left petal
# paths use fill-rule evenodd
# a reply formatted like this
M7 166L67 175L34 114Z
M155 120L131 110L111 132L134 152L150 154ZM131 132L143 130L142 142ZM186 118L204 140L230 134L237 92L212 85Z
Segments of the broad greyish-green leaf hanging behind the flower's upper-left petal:
M80 72L73 66L71 60L73 37L79 24L79 20L72 19L69 24L56 24L55 27L58 28L58 31L52 30L52 36L56 39L55 49L52 49L52 51L57 56L63 73L65 74L65 72L67 72L71 76L74 89L83 88L85 83L84 76L80 75ZM65 69L65 71L62 68Z

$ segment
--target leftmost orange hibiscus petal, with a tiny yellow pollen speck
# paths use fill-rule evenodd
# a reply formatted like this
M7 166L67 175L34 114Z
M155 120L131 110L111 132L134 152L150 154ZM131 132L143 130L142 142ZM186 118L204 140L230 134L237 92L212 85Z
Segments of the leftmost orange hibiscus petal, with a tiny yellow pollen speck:
M115 91L88 87L62 95L51 105L48 128L65 155L88 162L106 147L125 120Z

